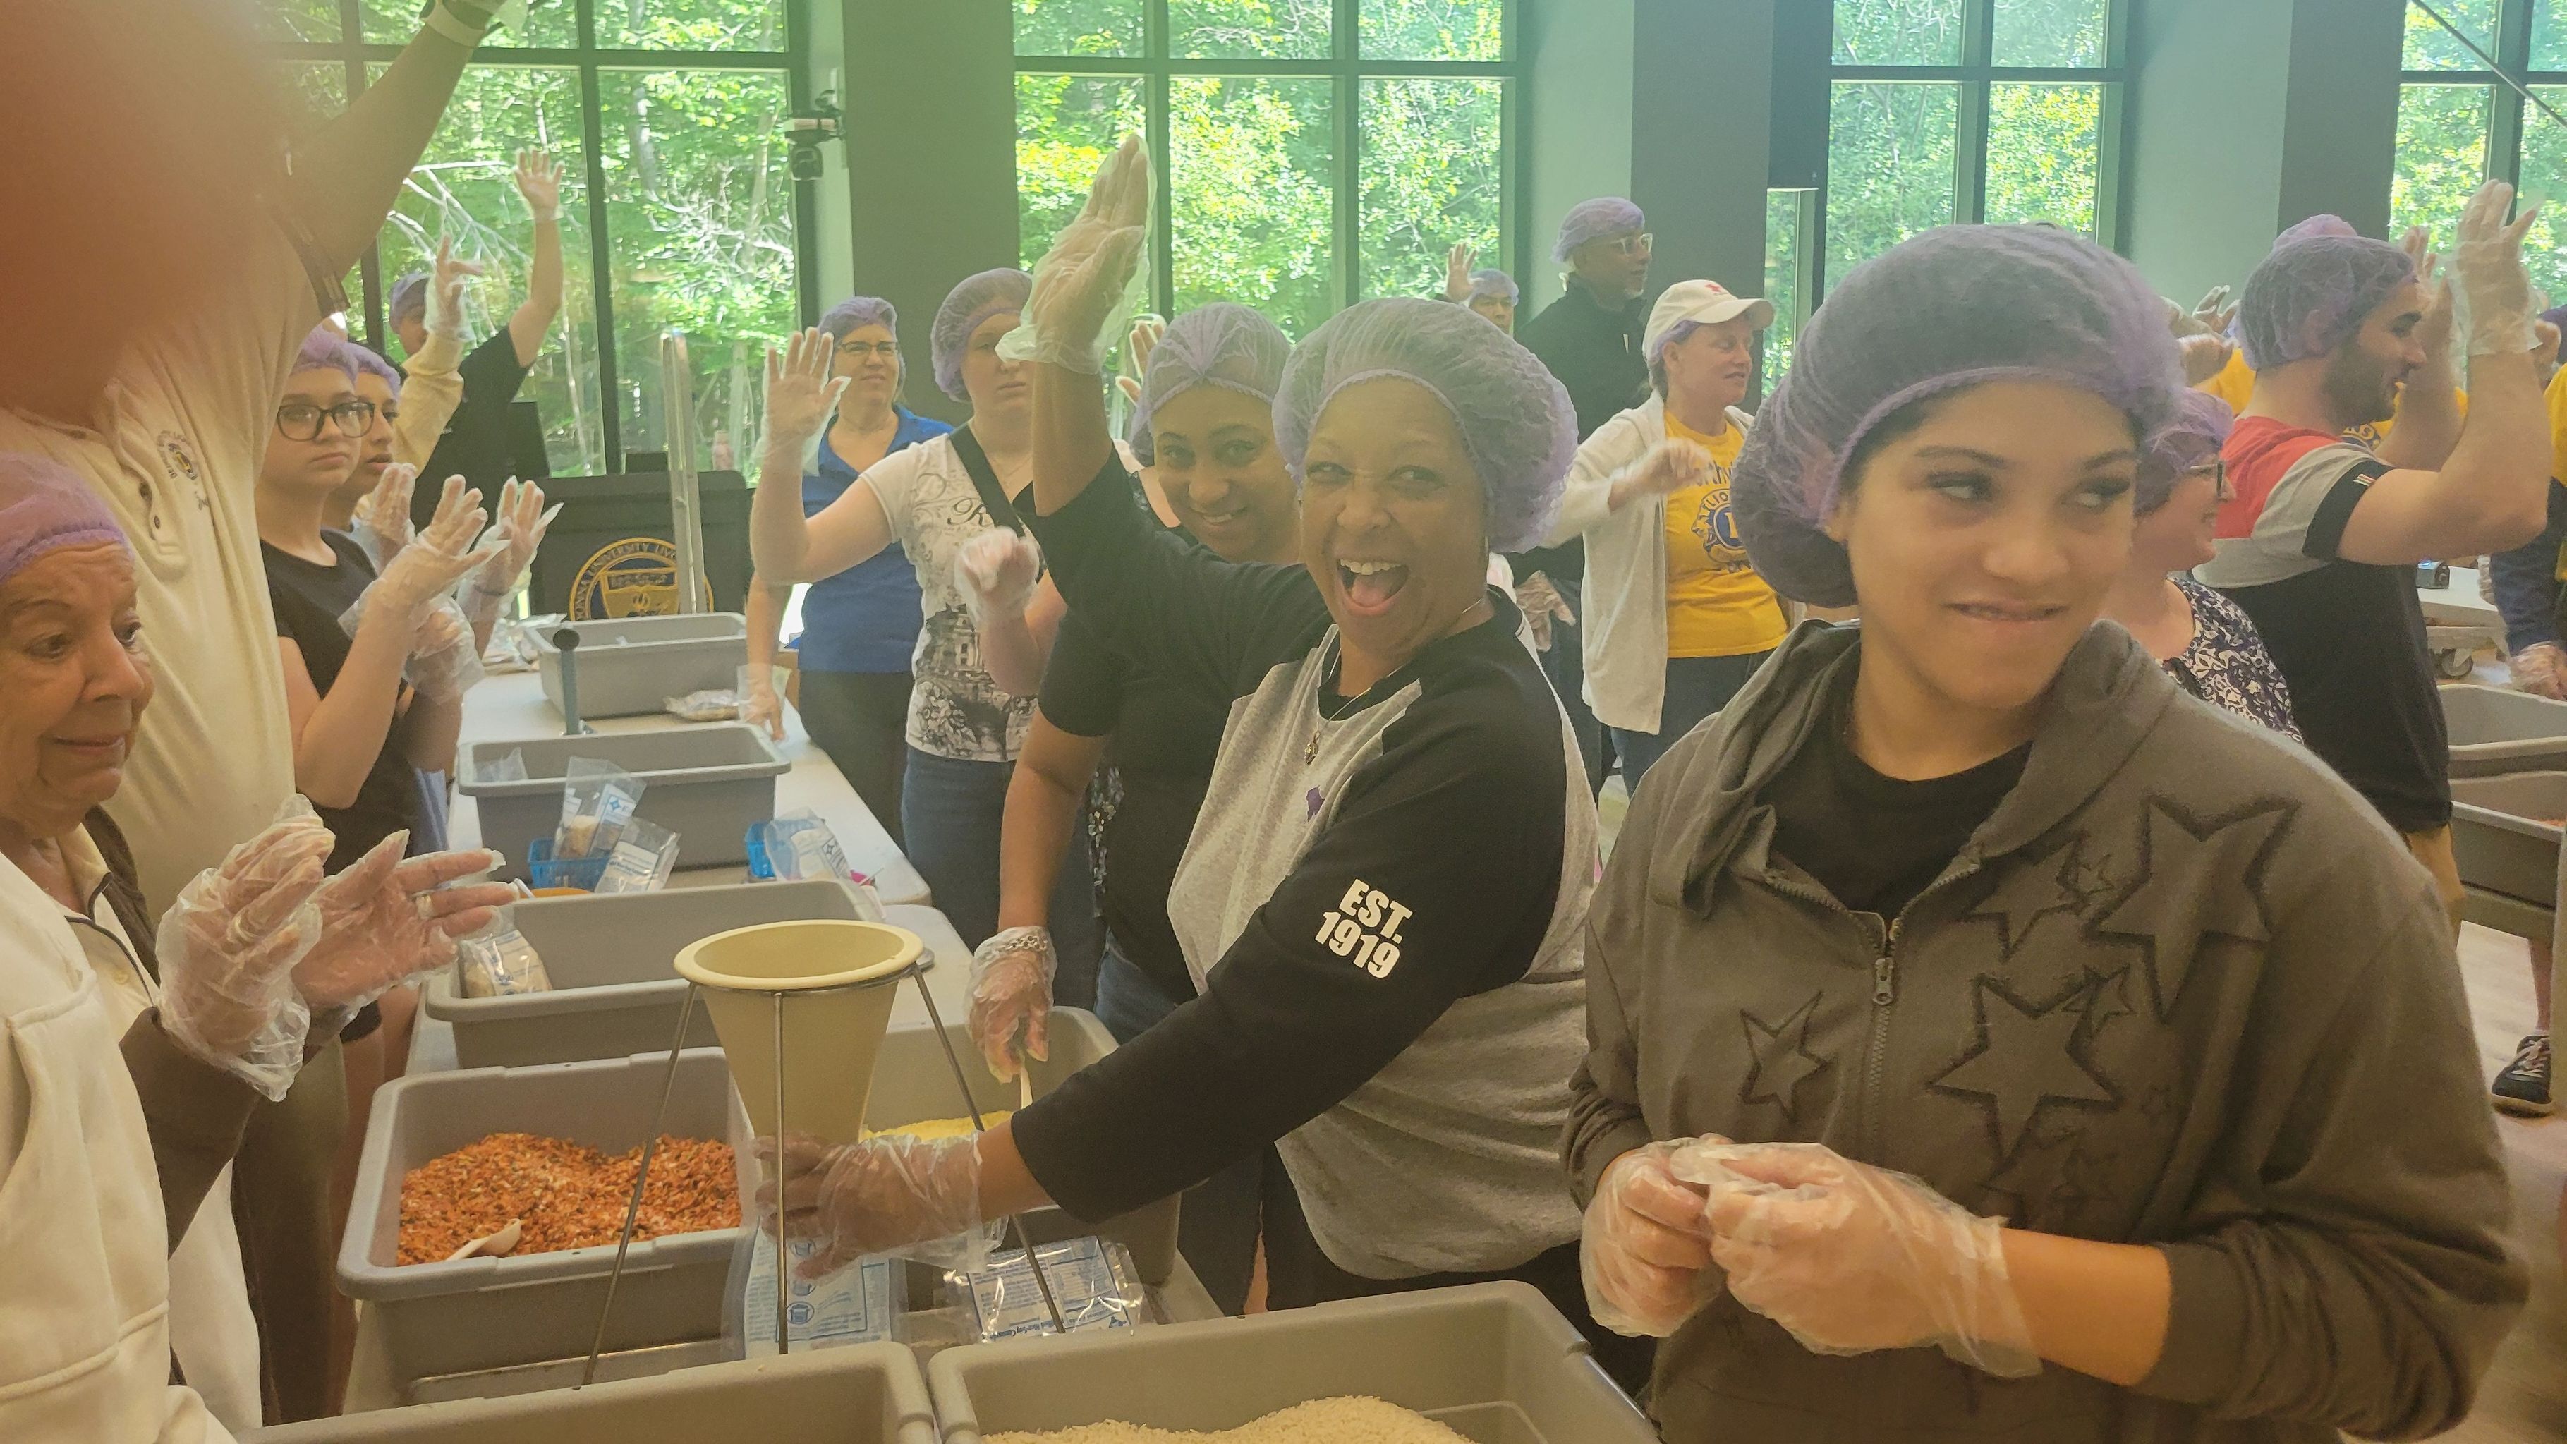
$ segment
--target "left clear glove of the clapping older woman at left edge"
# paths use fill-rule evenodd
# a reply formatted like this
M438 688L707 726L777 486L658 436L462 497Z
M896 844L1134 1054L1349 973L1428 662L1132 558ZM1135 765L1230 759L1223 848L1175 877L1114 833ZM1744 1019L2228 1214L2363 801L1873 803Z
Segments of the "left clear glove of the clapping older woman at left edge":
M303 1067L311 1008L295 995L295 964L321 939L321 864L336 846L303 798L259 836L198 872L154 934L162 1028L193 1057L270 1100Z

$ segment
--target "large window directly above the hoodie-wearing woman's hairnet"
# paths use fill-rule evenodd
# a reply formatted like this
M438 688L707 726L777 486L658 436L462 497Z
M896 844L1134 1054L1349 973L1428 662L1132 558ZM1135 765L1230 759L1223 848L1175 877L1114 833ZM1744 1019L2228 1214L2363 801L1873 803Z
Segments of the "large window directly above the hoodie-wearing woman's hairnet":
M2115 241L2123 0L1835 0L1830 277L1953 221ZM1812 246L1812 236L1794 236Z

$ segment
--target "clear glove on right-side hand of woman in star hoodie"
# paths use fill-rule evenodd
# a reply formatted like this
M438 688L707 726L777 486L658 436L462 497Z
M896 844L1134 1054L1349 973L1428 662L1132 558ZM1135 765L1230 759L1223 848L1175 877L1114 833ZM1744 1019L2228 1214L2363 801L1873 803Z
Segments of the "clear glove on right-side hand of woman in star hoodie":
M1704 1188L1730 1295L1812 1354L1930 1344L1997 1377L2041 1372L2002 1218L1823 1144L1687 1146L1669 1170Z

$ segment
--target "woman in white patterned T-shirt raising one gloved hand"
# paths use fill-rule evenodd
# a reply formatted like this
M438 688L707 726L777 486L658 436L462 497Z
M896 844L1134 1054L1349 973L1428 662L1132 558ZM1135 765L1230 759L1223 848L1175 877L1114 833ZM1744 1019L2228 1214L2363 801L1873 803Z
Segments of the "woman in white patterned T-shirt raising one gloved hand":
M993 269L965 277L937 308L937 387L968 400L970 421L891 451L819 510L791 485L760 487L750 503L750 557L768 585L829 582L891 546L909 557L924 621L911 649L901 846L970 946L999 931L1006 785L1060 623L1060 598L1042 585L1042 554L1017 505L1035 474L1035 387L1022 364L999 354L1029 292L1024 272ZM806 474L857 380L837 372L837 346L814 328L768 357L762 474ZM1086 846L1060 872L1050 928L1068 972L1065 1000L1086 1005L1096 977Z

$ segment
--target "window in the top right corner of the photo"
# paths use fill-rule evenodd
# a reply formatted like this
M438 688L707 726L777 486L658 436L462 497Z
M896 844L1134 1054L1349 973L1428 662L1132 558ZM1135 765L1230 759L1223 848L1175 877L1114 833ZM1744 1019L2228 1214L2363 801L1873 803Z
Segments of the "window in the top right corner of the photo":
M2541 105L2567 115L2567 0L2408 5L2392 221L2426 226L2449 251L2469 192L2508 180L2526 203L2549 203L2531 223L2523 262L2534 285L2562 298L2567 215L2552 208L2567 200L2567 123Z

